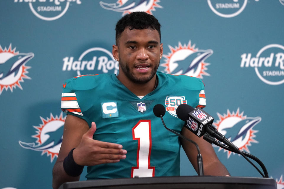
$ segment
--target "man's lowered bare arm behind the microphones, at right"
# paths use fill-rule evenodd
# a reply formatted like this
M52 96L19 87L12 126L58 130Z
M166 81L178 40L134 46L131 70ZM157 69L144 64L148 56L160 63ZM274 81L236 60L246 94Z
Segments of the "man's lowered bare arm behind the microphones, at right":
M226 167L218 159L212 145L205 141L202 137L198 137L191 133L187 128L183 128L181 134L193 141L195 141L199 148L200 153L203 158L203 169L204 175L214 175L214 176L228 176L230 175ZM197 149L196 146L184 139L180 139L183 149L193 165L194 169L197 168Z

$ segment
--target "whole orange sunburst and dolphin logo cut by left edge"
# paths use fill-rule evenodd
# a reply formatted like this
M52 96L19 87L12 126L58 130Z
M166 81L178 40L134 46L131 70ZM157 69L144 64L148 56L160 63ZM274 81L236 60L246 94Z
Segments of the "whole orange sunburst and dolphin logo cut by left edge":
M10 89L13 92L16 86L22 89L20 82L31 79L26 75L31 67L25 64L33 57L33 53L16 52L16 48L12 49L11 44L8 49L0 45L0 94L4 89L6 91Z

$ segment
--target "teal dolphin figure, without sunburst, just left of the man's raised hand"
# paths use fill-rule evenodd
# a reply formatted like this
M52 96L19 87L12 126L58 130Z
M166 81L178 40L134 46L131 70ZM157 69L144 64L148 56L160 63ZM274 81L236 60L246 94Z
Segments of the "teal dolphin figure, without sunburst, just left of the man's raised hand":
M63 128L64 128L64 124L62 124L62 126L60 126L56 131L45 133L49 135L49 138L45 142L37 146L35 145L35 143L26 143L22 141L19 141L19 144L23 148L32 149L35 151L43 151L46 149L53 148L62 142Z

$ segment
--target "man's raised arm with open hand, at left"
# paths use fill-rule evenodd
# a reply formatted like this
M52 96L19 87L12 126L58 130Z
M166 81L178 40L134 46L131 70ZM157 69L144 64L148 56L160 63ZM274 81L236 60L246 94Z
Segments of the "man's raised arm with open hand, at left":
M81 166L115 163L119 162L120 159L126 158L125 154L127 151L122 149L122 145L93 140L95 131L96 124L94 122L92 122L92 127L89 129L85 120L67 115L62 144L52 171L52 187L54 189L59 188L65 182L78 181L80 179L80 175L68 175L63 167L64 159L73 148L75 148L72 153L74 162ZM69 170L73 168L71 165L68 166Z

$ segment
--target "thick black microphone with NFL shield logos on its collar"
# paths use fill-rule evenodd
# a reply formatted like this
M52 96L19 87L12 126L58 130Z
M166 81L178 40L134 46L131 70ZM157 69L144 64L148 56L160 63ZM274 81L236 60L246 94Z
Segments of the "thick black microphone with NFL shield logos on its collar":
M185 121L185 128L190 130L196 136L201 137L205 133L213 136L217 140L223 142L230 148L238 150L231 141L229 141L224 135L222 135L218 130L212 126L214 118L201 108L193 108L187 104L181 104L177 108L177 116L181 120Z

